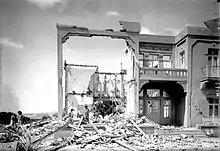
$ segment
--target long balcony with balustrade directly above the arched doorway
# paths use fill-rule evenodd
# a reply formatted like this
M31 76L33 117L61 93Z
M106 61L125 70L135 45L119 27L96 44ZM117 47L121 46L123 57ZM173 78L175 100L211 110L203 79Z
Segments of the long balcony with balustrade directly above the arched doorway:
M142 67L140 80L186 81L187 69Z

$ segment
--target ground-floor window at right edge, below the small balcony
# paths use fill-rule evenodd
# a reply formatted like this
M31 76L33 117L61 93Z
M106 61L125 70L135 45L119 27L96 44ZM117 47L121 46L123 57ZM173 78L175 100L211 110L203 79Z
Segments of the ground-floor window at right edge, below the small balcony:
M208 98L209 101L209 116L219 115L219 99Z

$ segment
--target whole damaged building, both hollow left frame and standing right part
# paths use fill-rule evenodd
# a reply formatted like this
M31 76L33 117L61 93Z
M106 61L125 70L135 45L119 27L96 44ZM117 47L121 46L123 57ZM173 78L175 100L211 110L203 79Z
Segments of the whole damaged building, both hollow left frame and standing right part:
M204 23L204 27L187 26L176 36L140 34L140 23L136 22L120 21L120 31L57 24L58 70L62 67L61 45L69 36L124 39L130 62L124 85L126 113L177 126L195 126L210 118L218 119L219 18ZM60 82L58 90L61 112Z

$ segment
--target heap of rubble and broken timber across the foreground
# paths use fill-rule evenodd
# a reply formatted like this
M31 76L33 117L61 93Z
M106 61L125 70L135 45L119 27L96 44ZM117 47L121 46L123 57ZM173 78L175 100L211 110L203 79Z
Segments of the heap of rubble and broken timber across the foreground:
M11 130L0 128L0 151L70 150L219 150L219 138L198 135L198 130L160 126L146 117L108 116L99 123L60 121L56 117L22 125ZM201 133L201 132L200 132Z

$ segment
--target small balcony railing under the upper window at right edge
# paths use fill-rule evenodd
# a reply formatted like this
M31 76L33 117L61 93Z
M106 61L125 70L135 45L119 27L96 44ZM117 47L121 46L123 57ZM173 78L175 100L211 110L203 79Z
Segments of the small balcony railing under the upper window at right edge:
M206 66L202 72L205 77L220 77L220 66Z

